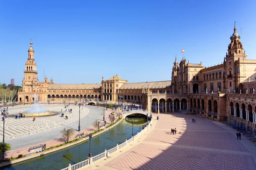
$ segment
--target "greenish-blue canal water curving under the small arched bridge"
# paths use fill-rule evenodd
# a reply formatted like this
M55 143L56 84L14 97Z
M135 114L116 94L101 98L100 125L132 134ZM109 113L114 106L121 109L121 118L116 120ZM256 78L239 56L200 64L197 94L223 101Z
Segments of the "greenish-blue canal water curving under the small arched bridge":
M123 119L115 127L95 136L91 140L92 155L96 156L106 150L109 150L125 142L125 139L130 139L132 134L131 120L134 120L134 134L140 132L146 125L145 118L129 118ZM60 170L62 168L79 163L87 159L89 153L89 140L80 144L73 145L63 150L58 150L54 153L40 156L28 161L23 161L17 164L12 164L6 167L0 167L0 170Z

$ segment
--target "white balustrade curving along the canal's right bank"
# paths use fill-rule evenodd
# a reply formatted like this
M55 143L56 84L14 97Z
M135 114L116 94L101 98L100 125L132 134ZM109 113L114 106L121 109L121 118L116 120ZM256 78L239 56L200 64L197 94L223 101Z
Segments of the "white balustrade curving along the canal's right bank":
M107 155L110 155L110 154L118 151L122 147L125 147L125 146L129 145L135 139L139 138L139 136L143 135L143 133L145 133L145 131L148 130L149 127L151 127L151 121L148 123L148 125L143 130L138 132L134 137L131 137L131 139L128 139L128 140L126 139L125 142L123 142L122 144L116 144L116 147L113 147L110 150L105 150L105 152L100 153L99 155L93 156L93 157L91 157L89 159L86 159L84 161L81 161L77 164L73 164L73 165L69 164L68 167L65 167L61 170L79 170L83 167L88 166L89 164L93 164L93 162L95 162L95 161L99 161L100 159L104 159Z

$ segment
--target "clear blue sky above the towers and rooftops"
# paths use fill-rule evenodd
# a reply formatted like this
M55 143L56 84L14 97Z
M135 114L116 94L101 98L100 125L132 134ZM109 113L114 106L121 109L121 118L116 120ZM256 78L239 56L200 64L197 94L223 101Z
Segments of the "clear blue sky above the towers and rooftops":
M0 82L21 85L30 38L38 79L56 84L170 80L181 50L191 63L223 62L234 21L256 54L255 0L0 1Z

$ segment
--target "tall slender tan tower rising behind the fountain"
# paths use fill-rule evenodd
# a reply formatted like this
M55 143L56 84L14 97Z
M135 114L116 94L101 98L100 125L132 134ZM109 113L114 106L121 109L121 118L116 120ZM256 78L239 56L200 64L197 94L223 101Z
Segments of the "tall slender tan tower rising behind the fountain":
M33 92L36 90L37 84L38 84L38 78L37 74L38 72L36 71L36 63L34 59L34 49L33 49L33 43L32 40L30 42L30 47L29 47L29 56L28 60L25 63L25 70L24 70L24 79L22 81L22 86L23 86L23 91L26 92Z

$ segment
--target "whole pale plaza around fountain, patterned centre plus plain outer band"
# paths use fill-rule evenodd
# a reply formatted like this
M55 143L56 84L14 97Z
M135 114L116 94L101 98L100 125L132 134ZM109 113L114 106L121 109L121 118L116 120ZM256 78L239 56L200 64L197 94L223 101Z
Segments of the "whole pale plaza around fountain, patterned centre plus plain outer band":
M9 107L9 115L5 119L5 142L11 144L12 151L9 151L9 155L23 153L29 147L37 144L47 144L47 147L60 144L62 141L60 131L64 128L72 128L75 133L78 132L79 125L79 106L70 105L68 109L72 109L72 113L64 112L64 104L60 105L43 105L47 111L55 111L57 114L52 116L36 116L35 122L32 121L33 117L26 117L21 119L15 119L15 115L18 115L20 111L24 111L31 107L31 105L18 105L15 107ZM68 116L68 119L61 117L61 109L64 116ZM105 111L105 117L111 113L111 110ZM92 131L92 123L97 120L103 124L103 108L97 108L93 106L81 106L80 107L80 125L81 133L87 133ZM3 127L3 122L0 121L0 126ZM107 119L107 124L109 120ZM94 131L94 130L93 130ZM3 134L3 128L0 128L0 134ZM3 136L0 136L0 141L3 140Z

